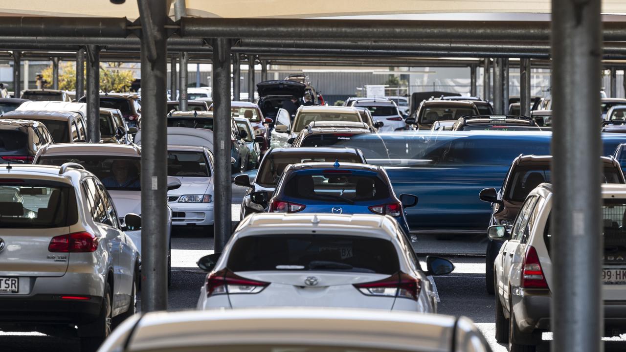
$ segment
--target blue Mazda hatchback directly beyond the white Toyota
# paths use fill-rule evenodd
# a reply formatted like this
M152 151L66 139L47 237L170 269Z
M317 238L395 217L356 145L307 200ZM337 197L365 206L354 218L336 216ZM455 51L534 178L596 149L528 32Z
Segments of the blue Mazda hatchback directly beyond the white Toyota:
M268 212L391 215L409 235L404 208L418 197L396 197L382 167L361 163L297 163L285 168L274 196L254 192L253 202L267 205Z

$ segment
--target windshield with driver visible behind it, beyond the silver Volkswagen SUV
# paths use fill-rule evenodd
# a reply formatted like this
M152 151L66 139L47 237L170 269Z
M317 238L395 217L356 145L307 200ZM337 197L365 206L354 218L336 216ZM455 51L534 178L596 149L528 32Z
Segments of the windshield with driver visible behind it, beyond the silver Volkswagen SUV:
M111 155L50 155L38 159L43 165L79 163L100 179L108 190L140 190L141 158Z

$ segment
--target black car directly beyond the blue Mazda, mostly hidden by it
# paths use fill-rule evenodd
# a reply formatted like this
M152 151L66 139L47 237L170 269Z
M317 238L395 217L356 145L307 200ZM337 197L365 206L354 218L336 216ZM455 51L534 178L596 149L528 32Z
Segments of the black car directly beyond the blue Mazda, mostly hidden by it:
M233 183L247 187L241 204L241 219L255 212L264 212L265 207L250 200L252 192L264 190L274 193L276 183L287 165L302 162L350 162L366 163L363 154L355 148L272 148L265 153L259 164L259 172L254 179L249 175L235 176Z

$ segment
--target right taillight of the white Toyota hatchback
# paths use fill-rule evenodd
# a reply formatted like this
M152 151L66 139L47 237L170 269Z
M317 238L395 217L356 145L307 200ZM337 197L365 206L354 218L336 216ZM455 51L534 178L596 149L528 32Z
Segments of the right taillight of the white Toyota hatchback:
M409 298L414 301L418 300L419 292L422 289L420 279L401 271L380 281L352 286L366 296Z

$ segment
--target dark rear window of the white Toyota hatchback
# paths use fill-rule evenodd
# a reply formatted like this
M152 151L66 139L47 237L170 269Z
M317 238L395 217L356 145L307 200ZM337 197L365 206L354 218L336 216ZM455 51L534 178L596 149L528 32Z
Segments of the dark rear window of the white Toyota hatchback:
M398 254L391 241L336 234L242 237L233 244L232 271L340 271L394 274Z

